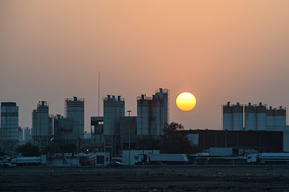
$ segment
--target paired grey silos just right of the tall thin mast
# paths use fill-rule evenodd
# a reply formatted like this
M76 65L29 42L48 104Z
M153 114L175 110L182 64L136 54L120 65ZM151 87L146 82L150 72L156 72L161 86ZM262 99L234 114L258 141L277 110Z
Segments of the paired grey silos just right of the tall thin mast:
M115 136L120 133L120 117L125 116L125 100L118 96L103 98L104 135Z

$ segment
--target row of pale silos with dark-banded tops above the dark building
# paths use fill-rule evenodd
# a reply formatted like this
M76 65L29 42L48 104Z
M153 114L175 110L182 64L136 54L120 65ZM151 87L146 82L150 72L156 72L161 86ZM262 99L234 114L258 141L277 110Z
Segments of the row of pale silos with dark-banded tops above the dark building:
M269 130L286 126L286 108L267 109L267 104L222 106L223 130ZM289 130L289 128L288 128Z

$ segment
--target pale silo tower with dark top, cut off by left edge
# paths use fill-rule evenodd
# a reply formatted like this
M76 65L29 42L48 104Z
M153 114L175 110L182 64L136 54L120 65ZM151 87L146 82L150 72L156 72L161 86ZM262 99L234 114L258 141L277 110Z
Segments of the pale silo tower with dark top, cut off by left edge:
M18 109L14 102L1 102L1 147L14 148L18 144Z

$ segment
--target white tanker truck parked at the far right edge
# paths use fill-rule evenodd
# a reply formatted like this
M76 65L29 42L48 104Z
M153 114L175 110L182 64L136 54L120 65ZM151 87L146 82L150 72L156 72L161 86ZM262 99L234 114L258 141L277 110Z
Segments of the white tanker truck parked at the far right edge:
M289 153L255 153L248 155L248 164L284 164L289 163Z

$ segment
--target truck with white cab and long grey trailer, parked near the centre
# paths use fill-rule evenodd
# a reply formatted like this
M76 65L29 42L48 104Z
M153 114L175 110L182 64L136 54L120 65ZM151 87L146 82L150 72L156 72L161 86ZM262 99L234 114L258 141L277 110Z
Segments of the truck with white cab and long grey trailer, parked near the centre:
M144 154L135 156L135 165L159 164L159 165L181 165L189 164L185 154Z

